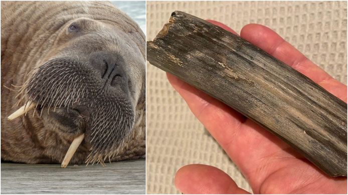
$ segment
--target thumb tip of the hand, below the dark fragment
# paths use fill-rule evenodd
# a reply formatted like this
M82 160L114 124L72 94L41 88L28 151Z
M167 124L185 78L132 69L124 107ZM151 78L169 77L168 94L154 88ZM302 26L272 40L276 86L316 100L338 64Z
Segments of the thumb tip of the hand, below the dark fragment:
M204 164L190 164L180 168L175 176L175 185L184 194L249 193L239 188L224 171Z

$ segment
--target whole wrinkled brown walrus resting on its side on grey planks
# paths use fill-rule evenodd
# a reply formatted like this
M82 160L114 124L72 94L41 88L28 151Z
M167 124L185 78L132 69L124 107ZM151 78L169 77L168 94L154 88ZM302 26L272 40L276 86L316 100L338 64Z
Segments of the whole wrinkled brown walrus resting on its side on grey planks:
M138 24L110 2L1 5L2 160L61 163L78 139L74 164L144 157Z

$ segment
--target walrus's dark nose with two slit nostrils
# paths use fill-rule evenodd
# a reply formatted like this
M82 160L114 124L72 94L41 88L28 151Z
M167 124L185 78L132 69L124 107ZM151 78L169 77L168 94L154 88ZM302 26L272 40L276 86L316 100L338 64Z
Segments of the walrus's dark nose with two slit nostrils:
M93 67L95 67L106 82L111 86L127 83L127 76L124 70L124 60L121 55L98 51L90 55Z

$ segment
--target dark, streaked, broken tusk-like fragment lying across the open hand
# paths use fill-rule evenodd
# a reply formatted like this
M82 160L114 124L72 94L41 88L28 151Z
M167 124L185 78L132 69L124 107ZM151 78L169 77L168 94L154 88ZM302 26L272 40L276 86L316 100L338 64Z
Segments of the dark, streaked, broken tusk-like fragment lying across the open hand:
M147 60L253 119L331 176L346 176L347 104L239 36L175 11Z

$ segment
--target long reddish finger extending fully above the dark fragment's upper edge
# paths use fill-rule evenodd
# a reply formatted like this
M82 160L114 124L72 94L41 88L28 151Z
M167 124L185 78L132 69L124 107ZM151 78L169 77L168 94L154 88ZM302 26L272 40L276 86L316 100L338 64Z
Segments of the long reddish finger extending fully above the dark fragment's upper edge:
M270 28L260 24L248 24L242 28L241 37L290 65L346 102L346 85L333 79Z

